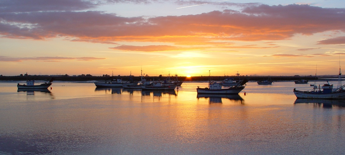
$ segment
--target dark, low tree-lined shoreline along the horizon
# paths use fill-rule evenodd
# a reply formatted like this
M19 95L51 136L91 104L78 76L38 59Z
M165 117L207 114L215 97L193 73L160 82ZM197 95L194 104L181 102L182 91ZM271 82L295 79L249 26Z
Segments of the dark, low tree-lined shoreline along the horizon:
M22 81L22 80L50 80L54 78L55 81L105 81L109 80L109 76L49 76L49 75L27 75L27 76L0 76L0 81ZM114 79L121 78L123 81L129 80L129 76L114 76ZM166 76L146 76L146 80L164 80ZM227 78L234 78L235 80L238 79L237 76L210 76L211 80L213 81L223 81ZM262 81L267 80L268 76L239 76L240 79L248 79L250 81ZM323 75L317 76L316 80L318 79L334 79L337 78L337 75ZM134 81L140 81L140 76L132 76ZM171 80L175 80L175 76L170 77ZM295 81L295 80L315 80L315 76L270 76L270 80L272 81ZM208 81L209 76L178 76L179 81Z

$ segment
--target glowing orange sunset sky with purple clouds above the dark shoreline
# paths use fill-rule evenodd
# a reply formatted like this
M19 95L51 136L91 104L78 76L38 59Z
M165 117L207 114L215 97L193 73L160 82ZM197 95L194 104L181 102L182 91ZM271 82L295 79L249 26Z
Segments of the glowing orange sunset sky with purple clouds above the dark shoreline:
M0 65L3 76L337 75L345 1L1 0Z

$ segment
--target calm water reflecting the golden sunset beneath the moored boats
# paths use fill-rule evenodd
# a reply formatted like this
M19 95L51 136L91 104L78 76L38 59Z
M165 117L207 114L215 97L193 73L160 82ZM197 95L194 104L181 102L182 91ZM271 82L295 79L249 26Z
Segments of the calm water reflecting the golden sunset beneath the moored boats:
M18 92L17 83L0 83L1 155L345 153L345 102L296 100L293 89L309 84L200 96L206 82L163 92L59 81Z

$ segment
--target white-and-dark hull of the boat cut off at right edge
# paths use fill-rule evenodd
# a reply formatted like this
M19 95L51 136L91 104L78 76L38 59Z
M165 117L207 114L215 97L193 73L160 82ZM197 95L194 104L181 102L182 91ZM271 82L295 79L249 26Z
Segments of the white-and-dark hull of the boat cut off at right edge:
M317 94L317 93L310 93L307 91L298 91L294 90L294 93L298 99L345 99L345 91L339 91L334 93L327 93L327 94Z

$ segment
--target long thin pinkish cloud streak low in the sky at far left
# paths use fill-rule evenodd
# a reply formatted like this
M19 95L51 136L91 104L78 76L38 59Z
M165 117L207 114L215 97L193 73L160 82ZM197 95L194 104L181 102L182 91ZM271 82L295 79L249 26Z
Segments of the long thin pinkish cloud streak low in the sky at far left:
M68 57L60 57L60 56L10 58L7 56L0 56L0 61L4 61L4 62L22 62L22 61L29 61L29 60L44 61L44 62L59 62L58 60L92 61L92 60L103 60L103 59L106 59L106 58L95 58L95 57L68 58Z

